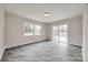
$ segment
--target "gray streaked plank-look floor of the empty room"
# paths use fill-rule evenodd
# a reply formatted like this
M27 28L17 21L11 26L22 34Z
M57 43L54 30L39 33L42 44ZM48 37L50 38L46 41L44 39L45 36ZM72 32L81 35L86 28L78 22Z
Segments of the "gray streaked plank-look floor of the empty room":
M78 46L45 41L6 50L2 62L82 62L82 55Z

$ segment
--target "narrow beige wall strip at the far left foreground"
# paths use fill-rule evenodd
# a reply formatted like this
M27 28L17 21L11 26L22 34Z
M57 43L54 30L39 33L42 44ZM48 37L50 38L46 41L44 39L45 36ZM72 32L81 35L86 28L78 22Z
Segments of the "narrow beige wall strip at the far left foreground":
M4 52L4 10L0 4L0 59Z

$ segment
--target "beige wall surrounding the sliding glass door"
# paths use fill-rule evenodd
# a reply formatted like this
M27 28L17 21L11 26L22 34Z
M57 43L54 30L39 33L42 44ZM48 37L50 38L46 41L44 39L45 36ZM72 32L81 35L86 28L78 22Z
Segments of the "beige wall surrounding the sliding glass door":
M53 25L68 24L68 43L81 46L82 45L82 17L76 17L62 21L57 21L48 24L48 39L52 39L51 29Z

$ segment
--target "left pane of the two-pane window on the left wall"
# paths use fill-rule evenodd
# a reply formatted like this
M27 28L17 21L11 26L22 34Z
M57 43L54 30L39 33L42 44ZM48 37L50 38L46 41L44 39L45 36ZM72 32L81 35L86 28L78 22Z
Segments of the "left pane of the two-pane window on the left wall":
M29 22L23 23L23 35L33 35L33 24Z

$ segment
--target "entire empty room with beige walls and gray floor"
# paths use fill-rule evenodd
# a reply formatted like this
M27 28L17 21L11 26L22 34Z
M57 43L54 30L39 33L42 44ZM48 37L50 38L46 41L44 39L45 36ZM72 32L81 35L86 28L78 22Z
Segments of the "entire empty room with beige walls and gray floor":
M0 3L0 62L88 62L87 3Z

